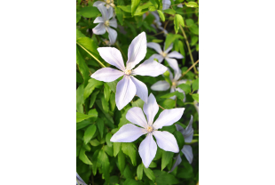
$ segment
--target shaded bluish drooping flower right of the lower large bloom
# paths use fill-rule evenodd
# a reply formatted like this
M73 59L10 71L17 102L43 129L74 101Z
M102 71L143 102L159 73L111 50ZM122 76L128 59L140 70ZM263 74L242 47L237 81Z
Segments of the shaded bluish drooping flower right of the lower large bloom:
M177 131L179 131L180 133L182 133L184 135L185 138L185 142L191 142L193 140L193 116L191 115L191 119L189 121L189 124L186 126L186 128L184 129L181 125L177 125L176 124L176 128ZM181 151L184 153L186 159L188 160L188 162L191 164L193 161L193 151L192 151L192 147L190 145L185 145L183 147L183 149L181 149ZM179 165L182 162L182 158L180 157L179 153L177 155L177 157L175 157L176 162L173 165L173 167L171 168L170 172L173 172L173 170L177 167L177 165Z

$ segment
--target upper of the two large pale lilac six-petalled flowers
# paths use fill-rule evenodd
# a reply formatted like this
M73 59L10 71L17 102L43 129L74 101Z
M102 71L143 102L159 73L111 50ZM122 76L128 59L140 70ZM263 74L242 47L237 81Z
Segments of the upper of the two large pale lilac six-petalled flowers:
M159 76L168 69L155 60L145 60L138 68L135 68L135 66L145 58L146 48L146 35L145 32L142 32L134 38L129 46L126 67L124 66L122 53L119 50L114 47L98 48L102 59L120 70L101 68L90 77L99 81L112 82L120 76L123 76L122 80L116 85L115 93L115 103L119 110L125 107L136 94L141 100L147 102L148 89L143 82L134 77L135 75Z

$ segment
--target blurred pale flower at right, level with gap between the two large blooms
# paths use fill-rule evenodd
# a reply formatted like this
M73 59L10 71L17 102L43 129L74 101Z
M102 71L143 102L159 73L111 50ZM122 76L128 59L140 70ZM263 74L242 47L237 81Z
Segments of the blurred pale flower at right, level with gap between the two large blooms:
M180 69L178 68L177 71L180 71ZM185 84L187 82L187 80L178 80L181 76L181 73L178 73L177 71L175 71L175 76L173 77L173 74L171 73L171 71L169 71L169 78L172 82L172 85L170 85L167 81L165 80L160 80L156 83L154 83L152 86L151 86L151 89L153 91L166 91L166 90L169 90L170 88L170 93L173 93L175 91L179 92L179 93L184 93L185 92L181 89L181 88L178 88L177 85L178 84ZM175 100L176 99L176 96L172 96L171 99ZM186 98L184 99L184 102L185 102Z

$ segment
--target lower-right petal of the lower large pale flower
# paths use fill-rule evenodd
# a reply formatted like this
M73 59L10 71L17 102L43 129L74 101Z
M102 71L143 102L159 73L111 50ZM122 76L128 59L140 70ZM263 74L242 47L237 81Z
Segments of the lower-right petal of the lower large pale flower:
M175 153L179 152L177 140L172 133L167 131L153 131L153 136L161 149Z

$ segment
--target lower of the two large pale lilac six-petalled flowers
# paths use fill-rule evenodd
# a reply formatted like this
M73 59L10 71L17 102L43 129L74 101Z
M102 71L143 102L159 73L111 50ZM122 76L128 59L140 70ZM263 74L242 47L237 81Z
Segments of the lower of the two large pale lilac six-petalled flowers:
M112 136L112 142L132 142L140 136L147 134L145 140L139 145L138 153L146 168L151 164L153 157L157 152L157 144L153 140L155 137L158 146L165 151L179 152L177 140L173 134L166 131L158 131L162 126L173 125L184 114L185 108L165 109L153 123L153 118L158 113L159 106L151 93L148 103L144 104L143 111L138 107L129 109L126 118L132 123L123 125L120 130ZM135 125L133 125L135 124ZM136 126L138 125L138 126Z

